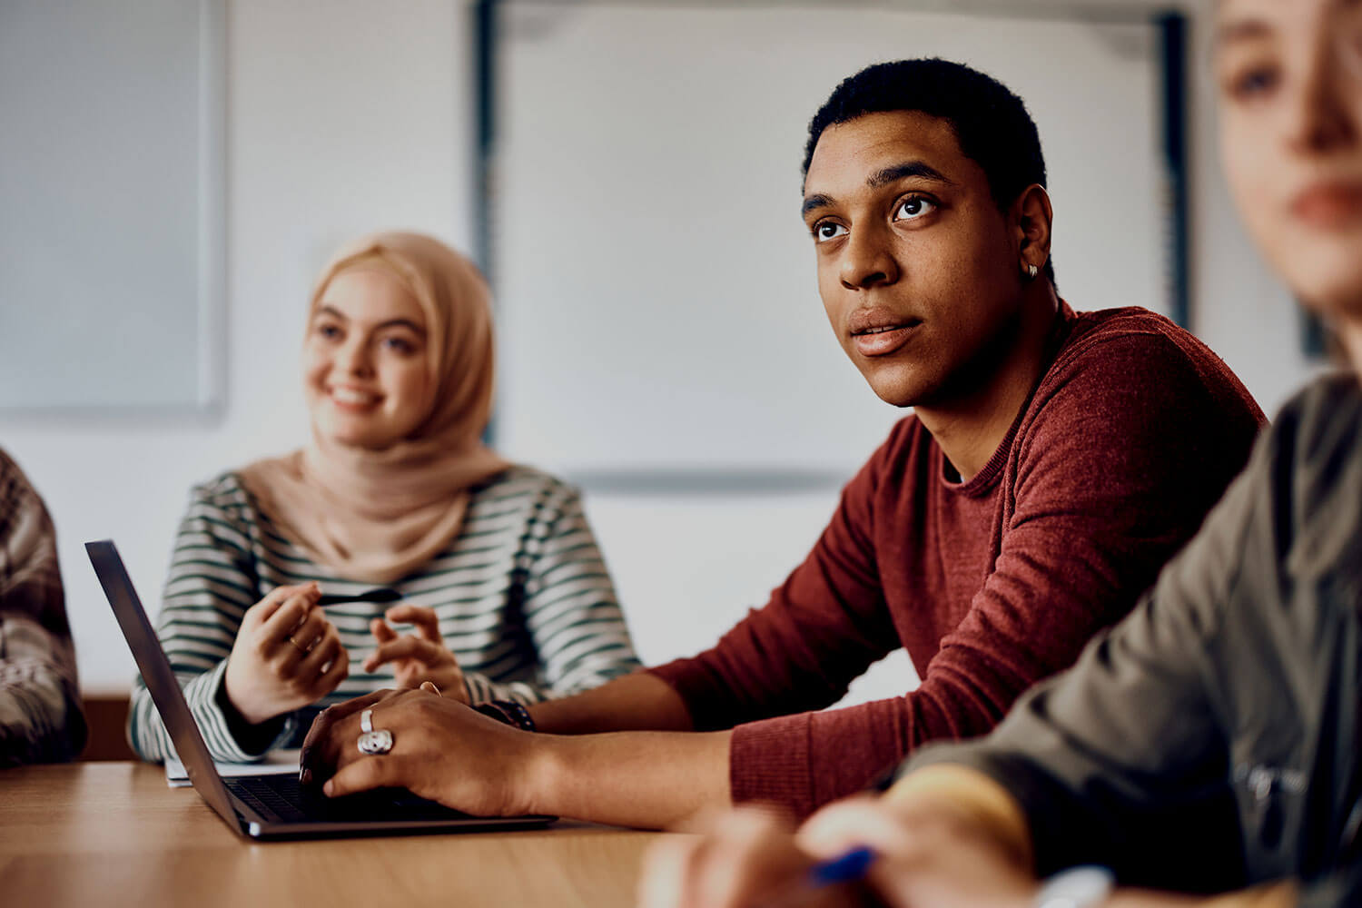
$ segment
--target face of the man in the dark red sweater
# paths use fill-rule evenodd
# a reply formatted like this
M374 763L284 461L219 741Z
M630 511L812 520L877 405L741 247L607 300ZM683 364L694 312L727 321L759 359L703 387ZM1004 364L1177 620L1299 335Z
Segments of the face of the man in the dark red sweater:
M986 381L1022 302L1020 237L948 123L892 112L829 127L804 221L832 331L881 399L940 406Z

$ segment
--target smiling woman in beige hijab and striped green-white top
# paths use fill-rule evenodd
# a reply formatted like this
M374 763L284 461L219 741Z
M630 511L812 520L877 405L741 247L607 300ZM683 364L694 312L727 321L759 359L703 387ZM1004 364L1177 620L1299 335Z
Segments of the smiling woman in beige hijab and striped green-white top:
M471 263L413 233L342 250L302 378L311 442L195 487L176 539L159 634L214 758L296 746L317 708L379 687L513 709L637 667L577 493L481 441ZM128 739L170 751L140 679Z

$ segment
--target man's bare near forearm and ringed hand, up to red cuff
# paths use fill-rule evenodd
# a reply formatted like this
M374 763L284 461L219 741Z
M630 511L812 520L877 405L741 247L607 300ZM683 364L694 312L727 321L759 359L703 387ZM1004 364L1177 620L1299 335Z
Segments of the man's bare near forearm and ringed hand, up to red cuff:
M364 711L392 746L360 751ZM328 796L380 787L484 817L556 814L663 828L727 807L730 731L539 734L433 690L375 692L326 709L302 746L304 784Z

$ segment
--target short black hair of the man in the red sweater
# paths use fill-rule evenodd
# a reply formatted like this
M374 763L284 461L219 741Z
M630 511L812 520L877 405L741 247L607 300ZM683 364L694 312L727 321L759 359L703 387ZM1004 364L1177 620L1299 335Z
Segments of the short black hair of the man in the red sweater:
M809 121L804 174L828 127L895 110L914 110L951 124L960 151L983 167L1000 210L1005 211L1031 184L1046 185L1041 136L1022 98L978 69L937 57L877 63L843 79ZM1050 260L1045 275L1054 280Z

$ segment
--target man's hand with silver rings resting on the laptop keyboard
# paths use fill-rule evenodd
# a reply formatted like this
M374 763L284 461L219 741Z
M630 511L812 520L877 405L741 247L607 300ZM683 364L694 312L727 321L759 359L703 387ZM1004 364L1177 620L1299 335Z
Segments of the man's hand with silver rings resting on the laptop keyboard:
M372 709L375 730L392 734L384 754L360 753L360 716ZM302 742L302 781L336 798L369 788L406 788L479 817L534 813L538 787L534 735L489 719L429 685L377 690L331 707Z

